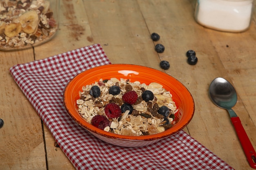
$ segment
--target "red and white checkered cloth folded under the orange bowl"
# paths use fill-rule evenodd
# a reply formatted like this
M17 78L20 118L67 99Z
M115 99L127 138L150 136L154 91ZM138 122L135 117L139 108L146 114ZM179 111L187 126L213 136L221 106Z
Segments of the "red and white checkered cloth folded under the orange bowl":
M77 74L110 64L99 44L10 68L58 145L77 170L233 170L184 131L149 146L125 148L91 135L63 106L63 91Z

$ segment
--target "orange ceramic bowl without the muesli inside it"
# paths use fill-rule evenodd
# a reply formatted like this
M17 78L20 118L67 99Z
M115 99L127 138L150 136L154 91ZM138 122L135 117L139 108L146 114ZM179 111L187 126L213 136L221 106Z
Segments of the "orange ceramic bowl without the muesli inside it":
M110 79L113 77L116 77L117 79L130 79L130 82L139 81L147 85L151 82L162 84L167 91L171 92L173 101L179 109L179 111L175 113L175 125L161 133L134 137L116 135L87 123L85 119L79 115L76 106L76 100L79 99L79 91L82 91L83 86L98 82L99 79ZM63 101L67 112L80 126L103 141L124 147L146 146L175 134L189 124L195 110L195 104L191 93L189 93L188 89L177 79L153 68L131 64L98 66L76 75L76 77L67 84L63 95Z

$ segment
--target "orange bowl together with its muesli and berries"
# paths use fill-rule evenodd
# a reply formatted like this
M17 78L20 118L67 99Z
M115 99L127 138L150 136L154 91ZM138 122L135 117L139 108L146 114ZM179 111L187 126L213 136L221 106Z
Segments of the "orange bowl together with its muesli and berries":
M63 102L77 124L124 147L153 144L182 130L195 104L174 77L146 66L109 64L76 75Z

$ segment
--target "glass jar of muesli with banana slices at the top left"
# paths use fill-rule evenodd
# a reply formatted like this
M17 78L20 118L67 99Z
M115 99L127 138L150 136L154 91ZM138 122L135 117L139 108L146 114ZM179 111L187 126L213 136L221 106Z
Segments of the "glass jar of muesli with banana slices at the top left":
M38 46L58 30L59 0L0 0L0 50Z

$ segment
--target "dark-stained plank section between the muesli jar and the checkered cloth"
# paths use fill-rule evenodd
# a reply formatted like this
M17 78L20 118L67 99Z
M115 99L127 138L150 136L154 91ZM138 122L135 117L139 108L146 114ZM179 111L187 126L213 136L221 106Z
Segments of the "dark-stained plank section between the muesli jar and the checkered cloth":
M60 2L59 29L52 40L35 48L36 60L97 43L91 37L83 1Z

